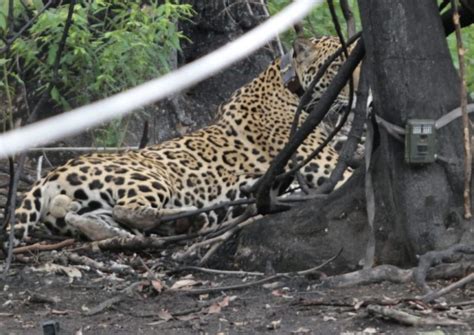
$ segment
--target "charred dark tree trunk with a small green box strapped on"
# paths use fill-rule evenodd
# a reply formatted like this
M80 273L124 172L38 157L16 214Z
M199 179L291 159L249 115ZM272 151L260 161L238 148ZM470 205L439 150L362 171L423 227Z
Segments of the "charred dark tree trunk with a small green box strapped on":
M436 120L458 107L459 78L436 3L359 0L359 6L376 113L404 127L409 119ZM376 210L390 213L391 230L411 260L461 238L462 230L452 226L463 203L460 120L438 132L439 154L450 163L409 166L403 144L379 129Z

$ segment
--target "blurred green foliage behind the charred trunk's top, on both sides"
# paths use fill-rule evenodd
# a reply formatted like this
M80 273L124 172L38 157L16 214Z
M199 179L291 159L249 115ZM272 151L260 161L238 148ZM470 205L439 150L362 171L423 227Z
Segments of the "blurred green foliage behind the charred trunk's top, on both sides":
M268 0L268 8L270 14L275 14L279 12L283 7L287 6L291 0ZM349 0L349 5L352 8L357 30L361 29L360 24L360 15L357 7L357 1ZM440 2L440 0L438 1ZM341 11L339 10L339 1L335 0L334 5L338 11L339 22L344 28L343 32L346 32L346 26L344 17L342 16ZM304 32L306 36L320 36L320 35L336 35L334 25L331 19L331 14L329 13L329 8L327 2L324 2L323 5L316 7L304 20ZM282 41L288 48L291 47L291 42L295 38L294 31L288 31L282 35ZM474 28L467 27L462 30L462 38L464 48L466 49L465 61L466 61L466 78L468 85L468 92L471 96L474 95ZM451 34L448 37L448 46L451 51L451 57L453 63L458 67L458 56L456 48L456 36ZM473 97L474 98L474 97Z

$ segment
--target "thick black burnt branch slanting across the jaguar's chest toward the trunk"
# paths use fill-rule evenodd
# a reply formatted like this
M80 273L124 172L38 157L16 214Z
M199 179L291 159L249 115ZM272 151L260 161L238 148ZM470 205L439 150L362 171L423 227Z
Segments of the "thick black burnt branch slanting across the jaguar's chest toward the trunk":
M352 76L355 68L363 58L364 53L364 44L362 39L360 39L354 47L351 55L347 58L347 61L341 66L339 72L334 77L334 80L322 95L319 103L315 106L315 109L301 125L300 129L296 131L294 136L290 138L290 141L285 148L283 148L283 150L275 157L268 171L260 179L260 185L256 197L259 213L264 214L282 209L282 205L278 206L277 204L272 204L272 199L270 199L270 191L276 176L283 172L288 160L298 149L299 145L303 143L306 137L308 137L314 128L322 121L333 102L338 97L340 91Z

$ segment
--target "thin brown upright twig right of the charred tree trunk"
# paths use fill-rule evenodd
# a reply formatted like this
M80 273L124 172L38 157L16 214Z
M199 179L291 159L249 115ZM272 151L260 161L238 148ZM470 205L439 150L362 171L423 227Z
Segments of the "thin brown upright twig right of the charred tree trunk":
M471 127L469 117L467 115L467 89L465 79L465 62L461 27L459 24L459 11L456 0L451 0L453 8L453 22L456 32L456 45L459 59L459 77L461 81L461 112L462 112L462 127L464 139L464 218L469 220L472 217L471 213L471 175L472 175L472 153L471 153Z

